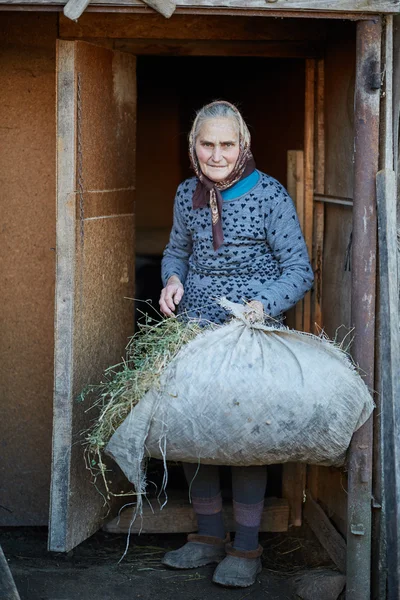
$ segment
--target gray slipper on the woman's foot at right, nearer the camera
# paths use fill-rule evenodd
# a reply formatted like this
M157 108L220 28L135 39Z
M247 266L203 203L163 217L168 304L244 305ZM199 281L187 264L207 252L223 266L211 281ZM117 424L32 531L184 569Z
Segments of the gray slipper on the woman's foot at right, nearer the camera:
M236 550L231 544L226 545L227 557L214 571L213 582L226 587L249 587L255 583L257 575L262 571L262 546L257 550Z

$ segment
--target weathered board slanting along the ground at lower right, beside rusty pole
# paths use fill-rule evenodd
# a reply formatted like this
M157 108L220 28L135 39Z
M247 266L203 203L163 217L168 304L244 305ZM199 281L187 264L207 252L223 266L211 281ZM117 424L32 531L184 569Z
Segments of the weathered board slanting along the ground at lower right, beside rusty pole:
M346 542L310 492L304 504L304 519L338 569L346 573Z

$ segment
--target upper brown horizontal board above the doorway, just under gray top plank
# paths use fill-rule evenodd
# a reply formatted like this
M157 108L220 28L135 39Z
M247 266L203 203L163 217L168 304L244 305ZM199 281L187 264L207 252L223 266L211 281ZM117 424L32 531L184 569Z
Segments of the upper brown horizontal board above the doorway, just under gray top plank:
M153 12L141 15L84 13L78 23L60 15L59 34L63 38L188 39L229 41L323 40L326 26L315 27L295 19L276 21L253 17L250 21L221 15L182 15L165 20Z

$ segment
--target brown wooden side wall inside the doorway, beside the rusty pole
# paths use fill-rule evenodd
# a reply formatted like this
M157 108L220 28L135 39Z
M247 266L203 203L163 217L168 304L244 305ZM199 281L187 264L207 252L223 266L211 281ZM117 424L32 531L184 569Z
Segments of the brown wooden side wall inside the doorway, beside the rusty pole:
M355 26L334 24L325 55L326 170L325 193L353 196L353 97ZM325 205L322 312L330 337L342 340L349 332L351 272L346 269L352 230L352 209ZM347 524L347 478L339 469L312 467L309 486L343 535Z

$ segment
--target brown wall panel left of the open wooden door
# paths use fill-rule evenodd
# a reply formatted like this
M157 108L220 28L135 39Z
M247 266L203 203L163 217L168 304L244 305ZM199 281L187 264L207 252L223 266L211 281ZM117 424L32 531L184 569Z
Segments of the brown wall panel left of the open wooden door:
M45 525L55 269L55 13L2 13L0 523Z

